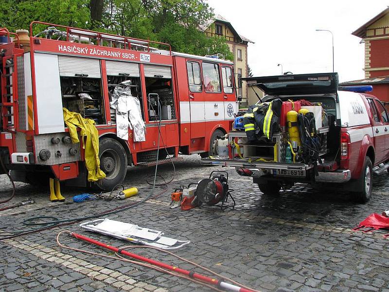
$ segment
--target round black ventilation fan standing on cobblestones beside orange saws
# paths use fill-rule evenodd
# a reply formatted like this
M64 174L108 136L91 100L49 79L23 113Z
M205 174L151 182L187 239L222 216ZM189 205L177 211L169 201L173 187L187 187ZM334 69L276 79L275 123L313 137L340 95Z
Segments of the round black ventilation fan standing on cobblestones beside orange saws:
M212 176L213 175L213 176ZM226 205L225 202L230 196L233 204ZM220 208L222 210L235 206L235 201L231 196L228 187L228 172L226 171L212 171L209 179L201 180L197 183L196 197L198 200L198 206L202 204L209 206L216 206L221 202Z

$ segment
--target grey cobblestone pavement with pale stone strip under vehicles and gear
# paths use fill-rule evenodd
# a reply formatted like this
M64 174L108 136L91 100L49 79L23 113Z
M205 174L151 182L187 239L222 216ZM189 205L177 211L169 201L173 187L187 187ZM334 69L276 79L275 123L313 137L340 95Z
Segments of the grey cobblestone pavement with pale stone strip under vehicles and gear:
M279 197L265 197L250 178L223 168L228 170L230 188L235 190L235 210L169 208L175 187L196 182L217 169L200 165L196 155L186 157L177 162L177 177L168 192L109 218L162 230L169 237L190 239L190 245L177 255L261 291L389 292L389 239L384 239L381 231L362 234L351 230L369 214L389 208L387 175L374 177L370 202L355 204L345 193L314 190L304 184L282 191ZM171 165L160 165L159 170L166 180L172 177ZM71 219L140 200L150 190L145 178L153 171L129 168L125 186L137 186L140 193L125 201L72 203L71 196L85 189L63 188L67 201L50 202L48 190L17 183L17 196L10 204L26 198L34 198L36 203L0 212L1 230L26 228L23 219L33 216ZM10 190L11 184L1 176L1 198ZM137 265L61 249L55 237L66 229L114 246L125 244L83 231L77 224L0 241L0 291L210 291ZM62 242L107 254L66 235ZM155 251L137 253L192 269Z

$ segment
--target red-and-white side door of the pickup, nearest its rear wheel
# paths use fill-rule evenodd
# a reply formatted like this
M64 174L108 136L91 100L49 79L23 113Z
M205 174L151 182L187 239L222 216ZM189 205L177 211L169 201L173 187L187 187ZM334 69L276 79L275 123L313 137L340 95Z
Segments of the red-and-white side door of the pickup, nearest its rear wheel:
M371 111L371 119L373 126L373 136L374 136L374 147L375 147L375 161L374 164L379 164L385 160L386 152L385 152L385 126L382 123L380 115L378 113L377 107L372 98L367 98L369 103L370 111Z

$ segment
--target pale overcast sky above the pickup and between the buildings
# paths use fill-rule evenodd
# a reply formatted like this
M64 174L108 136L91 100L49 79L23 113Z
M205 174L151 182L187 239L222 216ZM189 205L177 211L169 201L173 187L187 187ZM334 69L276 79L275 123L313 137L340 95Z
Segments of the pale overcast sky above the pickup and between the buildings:
M364 78L364 44L353 31L387 8L389 0L208 0L248 44L248 65L256 76L335 72L341 82Z

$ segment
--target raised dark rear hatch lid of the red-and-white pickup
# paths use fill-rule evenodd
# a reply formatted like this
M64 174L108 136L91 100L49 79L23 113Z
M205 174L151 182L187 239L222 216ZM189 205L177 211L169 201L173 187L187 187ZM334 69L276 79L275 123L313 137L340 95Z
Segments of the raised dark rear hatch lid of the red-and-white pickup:
M240 78L248 86L257 86L268 95L336 93L337 73L313 73Z

